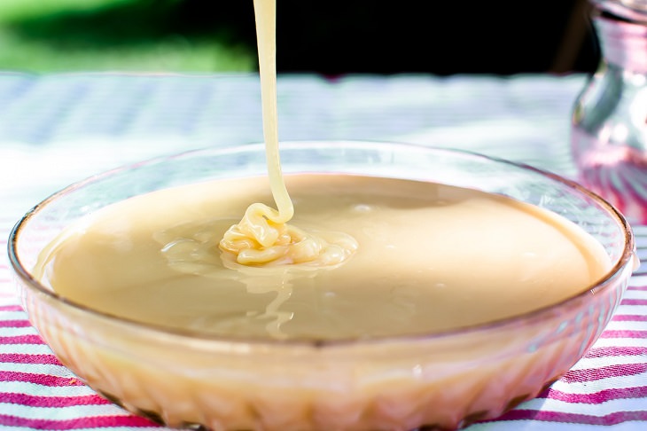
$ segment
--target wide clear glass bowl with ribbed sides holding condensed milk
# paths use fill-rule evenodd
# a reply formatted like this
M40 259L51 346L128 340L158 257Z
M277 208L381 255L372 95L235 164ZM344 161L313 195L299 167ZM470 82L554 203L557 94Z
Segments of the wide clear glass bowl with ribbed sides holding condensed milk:
M145 325L70 302L34 278L43 247L99 208L175 185L266 174L262 145L199 150L71 185L13 229L9 255L22 304L59 360L114 403L170 427L453 429L496 418L567 372L611 319L636 262L633 234L616 209L535 168L375 142L288 142L281 154L285 173L433 181L547 208L596 238L611 270L563 302L514 317L345 341L241 341Z

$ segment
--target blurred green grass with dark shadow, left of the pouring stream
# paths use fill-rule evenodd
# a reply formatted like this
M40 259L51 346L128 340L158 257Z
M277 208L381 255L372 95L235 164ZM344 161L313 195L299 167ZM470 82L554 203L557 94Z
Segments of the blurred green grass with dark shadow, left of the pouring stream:
M239 0L235 0L239 1ZM247 72L246 17L199 17L185 0L0 0L0 70ZM251 1L249 2L252 3ZM192 19L198 17L196 24ZM242 26L236 20L243 20ZM247 22L247 20L249 22Z

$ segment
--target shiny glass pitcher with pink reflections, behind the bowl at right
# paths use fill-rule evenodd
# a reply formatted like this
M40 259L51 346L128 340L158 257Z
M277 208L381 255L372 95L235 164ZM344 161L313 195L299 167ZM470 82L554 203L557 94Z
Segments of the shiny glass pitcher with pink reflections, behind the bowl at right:
M647 223L647 0L591 0L602 61L575 101L581 184Z

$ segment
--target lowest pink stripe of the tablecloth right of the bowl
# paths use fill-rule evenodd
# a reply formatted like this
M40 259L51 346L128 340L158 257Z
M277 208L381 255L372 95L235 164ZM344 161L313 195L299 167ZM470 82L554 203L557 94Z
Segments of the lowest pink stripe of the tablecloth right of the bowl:
M604 416L593 416L562 411L511 410L496 420L533 419L543 422L564 422L582 425L618 425L632 420L647 420L647 411L615 411Z

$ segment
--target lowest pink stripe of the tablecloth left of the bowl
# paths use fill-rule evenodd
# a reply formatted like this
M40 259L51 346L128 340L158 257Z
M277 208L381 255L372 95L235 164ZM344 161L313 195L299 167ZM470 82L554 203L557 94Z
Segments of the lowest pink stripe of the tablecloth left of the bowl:
M34 429L79 429L100 427L155 427L150 420L139 416L93 416L79 419L28 419L0 414L0 426L31 427Z

